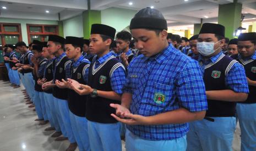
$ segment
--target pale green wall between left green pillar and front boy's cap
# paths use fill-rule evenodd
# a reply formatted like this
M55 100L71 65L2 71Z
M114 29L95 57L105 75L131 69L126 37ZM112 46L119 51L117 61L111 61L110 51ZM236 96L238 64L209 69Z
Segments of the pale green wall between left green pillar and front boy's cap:
M136 10L107 8L101 10L101 24L114 27L119 32L130 25L130 20L136 13Z

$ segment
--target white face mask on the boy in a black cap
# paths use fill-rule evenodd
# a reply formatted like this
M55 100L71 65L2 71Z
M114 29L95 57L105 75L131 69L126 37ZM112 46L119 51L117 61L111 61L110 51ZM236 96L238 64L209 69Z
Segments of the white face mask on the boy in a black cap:
M220 40L216 43L219 43L219 42L220 42ZM213 42L198 42L197 43L197 50L201 55L209 56L209 55L213 54L217 49L220 48L219 47L216 50L214 50L214 45L216 43L213 43Z

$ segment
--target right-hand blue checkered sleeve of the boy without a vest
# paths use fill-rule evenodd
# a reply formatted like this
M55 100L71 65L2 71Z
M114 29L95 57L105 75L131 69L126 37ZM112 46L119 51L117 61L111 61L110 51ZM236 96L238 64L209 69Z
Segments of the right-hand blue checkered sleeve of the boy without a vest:
M195 61L187 63L177 79L177 96L190 112L208 109L203 71Z

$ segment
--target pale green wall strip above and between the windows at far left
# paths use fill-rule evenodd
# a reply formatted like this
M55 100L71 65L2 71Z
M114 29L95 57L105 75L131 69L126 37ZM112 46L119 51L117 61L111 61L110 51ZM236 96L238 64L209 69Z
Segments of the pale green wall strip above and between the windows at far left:
M28 44L28 32L26 30L26 24L58 25L58 21L51 21L51 20L29 20L29 19L0 18L0 22L20 24L21 25L22 39L26 44Z

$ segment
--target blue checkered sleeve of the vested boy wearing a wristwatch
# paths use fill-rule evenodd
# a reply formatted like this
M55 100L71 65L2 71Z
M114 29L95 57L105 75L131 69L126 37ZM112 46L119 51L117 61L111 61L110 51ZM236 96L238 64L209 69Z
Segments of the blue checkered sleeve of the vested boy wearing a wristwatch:
M115 71L113 71L112 76L110 78L112 90L115 91L117 94L122 95L122 89L124 83L126 82L125 69L122 66L119 66L115 69Z

